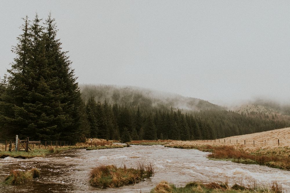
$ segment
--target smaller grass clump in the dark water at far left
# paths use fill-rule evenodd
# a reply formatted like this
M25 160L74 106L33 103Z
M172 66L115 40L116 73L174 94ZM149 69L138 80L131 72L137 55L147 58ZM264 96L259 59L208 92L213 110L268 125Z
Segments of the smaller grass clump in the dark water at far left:
M11 170L10 175L5 179L6 184L22 184L40 177L38 169L33 168L29 171Z

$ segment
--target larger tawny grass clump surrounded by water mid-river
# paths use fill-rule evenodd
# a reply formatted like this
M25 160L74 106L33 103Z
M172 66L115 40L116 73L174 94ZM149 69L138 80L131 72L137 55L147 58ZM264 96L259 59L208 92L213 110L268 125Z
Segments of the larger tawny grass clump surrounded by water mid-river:
M90 184L102 188L120 187L128 184L138 183L154 175L152 163L137 163L137 169L117 168L115 165L101 165L90 172Z

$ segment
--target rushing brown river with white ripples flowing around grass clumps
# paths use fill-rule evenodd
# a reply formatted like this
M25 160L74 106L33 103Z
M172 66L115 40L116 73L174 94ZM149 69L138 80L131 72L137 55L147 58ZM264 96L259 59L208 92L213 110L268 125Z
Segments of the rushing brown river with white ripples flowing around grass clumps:
M29 170L38 168L41 177L23 185L0 187L0 192L148 192L155 185L166 180L175 185L185 185L189 181L217 182L226 180L234 183L269 185L271 181L282 184L285 192L290 192L290 171L267 166L212 161L207 152L165 148L164 146L132 146L128 148L103 150L69 150L50 157L32 159L0 159L0 181L11 169ZM120 188L100 189L88 183L89 172L99 164L136 166L137 161L152 162L155 175L151 179L135 185Z

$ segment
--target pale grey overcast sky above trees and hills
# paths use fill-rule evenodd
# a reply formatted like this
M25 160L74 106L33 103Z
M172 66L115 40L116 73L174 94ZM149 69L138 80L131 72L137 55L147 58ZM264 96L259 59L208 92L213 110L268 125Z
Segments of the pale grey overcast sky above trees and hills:
M290 1L0 1L0 76L22 17L56 19L79 83L290 100Z

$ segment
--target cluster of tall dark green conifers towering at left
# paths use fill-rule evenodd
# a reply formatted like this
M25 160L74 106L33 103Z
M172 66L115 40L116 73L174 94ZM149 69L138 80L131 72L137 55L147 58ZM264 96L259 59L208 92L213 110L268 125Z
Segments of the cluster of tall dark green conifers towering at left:
M84 141L90 130L71 62L61 51L54 19L42 22L37 14L32 23L24 19L1 94L0 127L6 137Z

